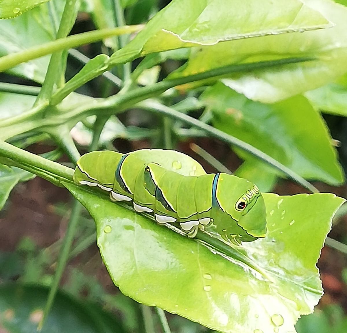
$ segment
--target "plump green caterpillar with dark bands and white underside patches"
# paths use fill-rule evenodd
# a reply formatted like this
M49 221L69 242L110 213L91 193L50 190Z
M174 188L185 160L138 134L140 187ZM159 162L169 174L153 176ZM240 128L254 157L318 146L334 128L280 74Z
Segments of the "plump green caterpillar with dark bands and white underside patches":
M192 161L193 171L185 169ZM168 170L175 163L181 167ZM74 181L99 186L112 201L132 202L137 212L174 224L188 237L195 237L198 228L235 244L265 237L265 203L256 185L225 173L206 174L177 151L93 151L78 160Z

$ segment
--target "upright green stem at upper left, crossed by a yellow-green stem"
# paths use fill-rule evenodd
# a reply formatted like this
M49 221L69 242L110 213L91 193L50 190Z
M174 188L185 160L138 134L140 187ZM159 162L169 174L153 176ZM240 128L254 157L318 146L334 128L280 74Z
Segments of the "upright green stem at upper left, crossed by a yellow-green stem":
M69 0L65 2L64 11L61 16L59 29L56 36L57 40L59 38L65 38L75 22L77 16L76 1L77 0ZM34 106L39 104L41 100L49 100L51 97L54 84L58 83L58 80L62 75L62 71L65 68L64 64L62 63L64 59L66 59L66 57L63 56L62 50L54 52L51 55L47 73L40 93L35 100Z

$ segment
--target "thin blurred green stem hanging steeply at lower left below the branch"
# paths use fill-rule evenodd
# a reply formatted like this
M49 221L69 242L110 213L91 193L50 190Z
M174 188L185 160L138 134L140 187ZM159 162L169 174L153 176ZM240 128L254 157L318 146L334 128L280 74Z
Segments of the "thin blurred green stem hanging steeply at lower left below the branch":
M65 270L65 267L66 267L66 264L67 264L67 261L69 258L71 244L72 244L73 239L74 239L74 235L76 232L76 228L78 225L78 219L79 219L79 215L81 214L81 211L82 211L82 205L77 200L75 200L73 208L72 208L68 228L66 230L66 234L64 237L64 242L63 242L62 247L60 249L60 253L59 253L59 257L58 257L57 270L56 270L56 273L54 274L54 278L53 278L51 288L50 288L50 291L48 294L48 300L47 300L46 306L45 306L44 311L43 311L43 317L39 323L39 326L37 327L38 331L41 331L41 329L42 329L42 327L43 327L43 325L47 319L47 316L51 310L54 298L55 298L57 290L58 290L61 276Z

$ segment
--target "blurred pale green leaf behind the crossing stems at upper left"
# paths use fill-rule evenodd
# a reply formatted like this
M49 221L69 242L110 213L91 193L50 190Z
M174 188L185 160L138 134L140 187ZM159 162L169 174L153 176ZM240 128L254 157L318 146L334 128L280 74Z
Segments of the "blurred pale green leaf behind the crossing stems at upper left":
M18 2L22 3L23 1ZM50 3L52 17L54 19L53 23L46 4L35 7L20 17L10 20L1 20L0 56L24 51L29 47L53 41L56 35L55 23L58 24L60 21L64 4L64 0L56 0ZM49 55L39 59L33 59L10 69L9 72L37 82L42 82L49 59Z

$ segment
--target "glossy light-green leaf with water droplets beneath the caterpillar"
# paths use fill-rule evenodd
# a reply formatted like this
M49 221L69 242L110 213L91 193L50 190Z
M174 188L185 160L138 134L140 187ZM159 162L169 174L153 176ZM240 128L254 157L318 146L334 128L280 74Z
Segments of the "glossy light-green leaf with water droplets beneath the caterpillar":
M313 311L323 292L316 262L345 201L331 193L264 193L266 237L231 245L238 256L226 257L107 194L64 186L94 218L104 263L125 295L231 333L273 332L275 324L280 333L294 332L297 318Z

